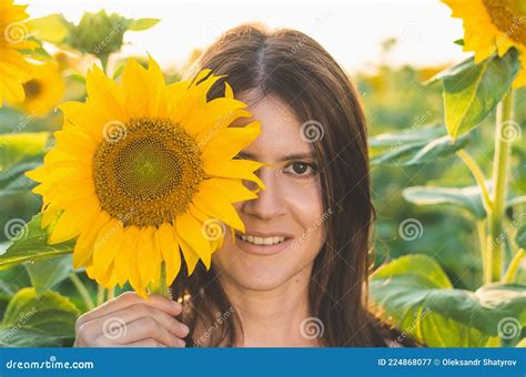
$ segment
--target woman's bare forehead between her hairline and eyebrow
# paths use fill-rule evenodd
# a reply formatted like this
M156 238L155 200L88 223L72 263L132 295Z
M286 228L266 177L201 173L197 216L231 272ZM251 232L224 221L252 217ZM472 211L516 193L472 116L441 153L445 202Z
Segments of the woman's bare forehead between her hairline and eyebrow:
M244 153L267 162L279 161L287 154L310 154L311 143L301 135L301 123L293 110L276 96L259 98L254 92L241 93L239 100L249 104L252 120L261 122L261 135ZM239 120L233 125L246 124L247 120Z

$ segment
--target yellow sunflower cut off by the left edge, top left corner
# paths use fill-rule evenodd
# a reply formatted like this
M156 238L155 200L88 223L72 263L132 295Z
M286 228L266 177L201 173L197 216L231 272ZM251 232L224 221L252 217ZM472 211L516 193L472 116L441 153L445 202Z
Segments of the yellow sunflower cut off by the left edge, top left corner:
M22 83L31 78L31 64L20 52L38 44L28 41L29 16L27 6L14 6L12 0L0 0L0 108L3 102L23 101Z

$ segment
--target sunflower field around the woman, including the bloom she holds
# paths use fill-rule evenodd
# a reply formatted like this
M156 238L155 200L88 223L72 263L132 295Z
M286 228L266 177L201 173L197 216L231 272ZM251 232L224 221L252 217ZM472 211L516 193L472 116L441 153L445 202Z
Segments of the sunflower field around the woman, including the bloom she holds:
M442 2L466 60L352 75L377 211L371 306L428 347L524 347L526 2ZM170 295L183 262L209 268L218 234L244 231L232 203L264 190L263 164L234 157L261 130L227 128L251 113L229 86L206 101L211 72L122 58L160 20L18 3L0 0L0 347L69 347L82 313Z

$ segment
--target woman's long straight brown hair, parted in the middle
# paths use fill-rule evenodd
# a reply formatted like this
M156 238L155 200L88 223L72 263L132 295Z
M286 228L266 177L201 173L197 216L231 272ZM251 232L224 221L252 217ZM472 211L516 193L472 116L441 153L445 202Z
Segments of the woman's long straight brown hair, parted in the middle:
M326 242L311 277L311 314L323 323L321 340L325 346L386 346L386 338L399 333L367 308L368 242L376 215L371 201L366 122L343 69L304 33L289 29L271 32L260 24L241 26L223 34L200 57L196 70L201 69L226 75L234 93L256 89L262 96L275 95L301 123L317 126L313 146L324 210L331 215L324 223ZM210 99L224 90L223 81L216 83ZM188 304L183 320L192 330L196 323L213 329L208 334L209 345L234 343L235 325L241 328L241 324L214 267L206 272L199 265L192 276L176 278L172 291ZM403 340L407 343L407 337Z

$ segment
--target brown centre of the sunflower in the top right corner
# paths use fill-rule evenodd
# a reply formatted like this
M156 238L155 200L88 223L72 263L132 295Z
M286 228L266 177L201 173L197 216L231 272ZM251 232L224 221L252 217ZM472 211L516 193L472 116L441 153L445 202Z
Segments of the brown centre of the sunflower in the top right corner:
M507 38L526 44L526 4L524 0L483 0L492 22Z

